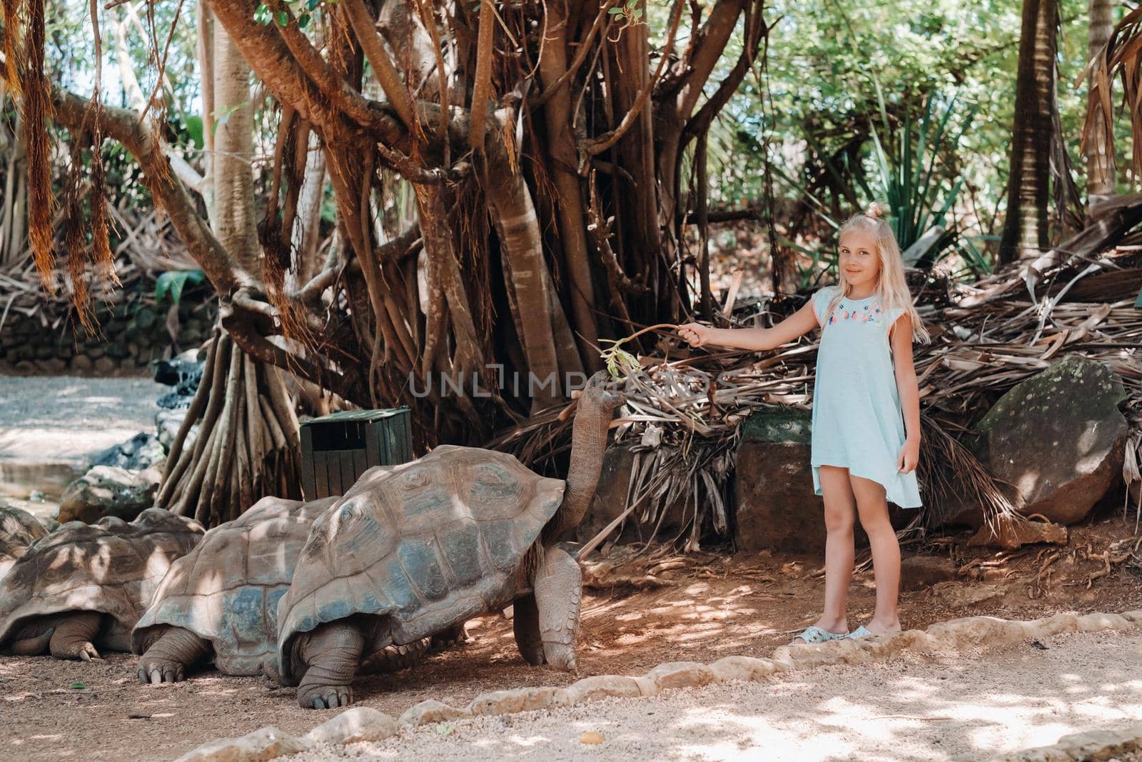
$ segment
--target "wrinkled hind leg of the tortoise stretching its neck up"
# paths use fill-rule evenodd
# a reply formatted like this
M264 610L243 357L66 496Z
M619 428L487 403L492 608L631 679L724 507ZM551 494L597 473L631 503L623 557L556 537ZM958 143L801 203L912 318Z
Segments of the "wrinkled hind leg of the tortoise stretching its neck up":
M295 649L301 661L301 668L295 672L303 675L297 687L298 705L304 709L331 709L352 704L353 676L364 651L364 633L340 620L321 625L301 639Z

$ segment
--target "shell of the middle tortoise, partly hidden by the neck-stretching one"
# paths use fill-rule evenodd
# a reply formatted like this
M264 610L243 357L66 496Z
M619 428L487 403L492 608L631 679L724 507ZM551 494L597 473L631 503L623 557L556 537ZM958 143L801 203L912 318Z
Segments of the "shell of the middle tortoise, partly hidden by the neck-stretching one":
M263 665L275 669L278 601L293 578L313 520L337 499L265 497L208 531L171 564L131 633L131 650L142 653L150 631L169 625L209 641L224 674L257 675Z

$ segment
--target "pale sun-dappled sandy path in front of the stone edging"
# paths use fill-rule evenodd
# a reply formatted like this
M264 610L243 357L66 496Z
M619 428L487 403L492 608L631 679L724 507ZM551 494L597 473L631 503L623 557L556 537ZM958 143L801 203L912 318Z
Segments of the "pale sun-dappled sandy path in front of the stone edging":
M1142 717L1136 631L1039 645L458 720L286 759L980 760ZM582 743L584 732L603 743Z

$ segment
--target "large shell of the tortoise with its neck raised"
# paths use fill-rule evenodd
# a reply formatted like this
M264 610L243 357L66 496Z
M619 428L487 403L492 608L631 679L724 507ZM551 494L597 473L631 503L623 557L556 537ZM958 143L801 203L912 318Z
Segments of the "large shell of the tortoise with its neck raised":
M512 455L468 447L367 471L313 523L281 600L282 680L295 680L290 641L323 623L388 617L404 645L506 607L563 488Z

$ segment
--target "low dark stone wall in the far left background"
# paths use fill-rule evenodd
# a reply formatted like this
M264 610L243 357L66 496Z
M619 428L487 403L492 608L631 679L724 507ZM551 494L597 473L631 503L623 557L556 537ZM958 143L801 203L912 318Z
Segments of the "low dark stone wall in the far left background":
M210 337L217 302L206 292L183 295L176 336L167 308L140 300L99 305L102 336L86 336L71 315L51 321L9 312L0 327L0 374L18 376L142 376L152 360L170 358ZM56 322L55 326L51 323Z

